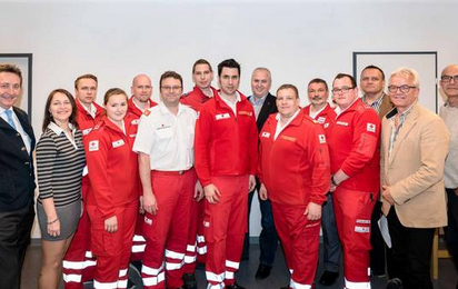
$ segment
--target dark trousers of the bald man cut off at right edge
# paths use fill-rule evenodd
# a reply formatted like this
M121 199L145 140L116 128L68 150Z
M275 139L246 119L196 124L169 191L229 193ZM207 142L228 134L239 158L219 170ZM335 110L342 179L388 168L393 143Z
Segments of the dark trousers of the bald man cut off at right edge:
M448 198L448 226L444 228L447 249L454 259L455 269L458 271L458 196L452 189L447 189Z

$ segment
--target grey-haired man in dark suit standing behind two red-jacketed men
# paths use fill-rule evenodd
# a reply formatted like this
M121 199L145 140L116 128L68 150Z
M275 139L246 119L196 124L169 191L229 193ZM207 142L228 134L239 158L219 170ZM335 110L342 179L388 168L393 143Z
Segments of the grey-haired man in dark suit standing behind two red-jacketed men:
M270 113L277 112L276 97L270 94L269 89L271 87L272 79L270 71L267 68L257 68L251 76L251 90L252 96L248 98L253 106L256 113L256 124L258 131L261 131L263 123ZM260 182L256 179L255 190L259 191ZM248 196L248 217L251 210L251 201L255 195L255 190L250 191ZM272 208L269 200L261 200L258 198L261 209L261 233L259 236L259 247L261 255L259 257L259 268L256 272L257 279L265 279L269 277L270 270L275 259L277 250L278 237L273 225ZM248 218L248 222L249 222ZM242 259L248 259L249 250L249 233L245 238L243 256Z

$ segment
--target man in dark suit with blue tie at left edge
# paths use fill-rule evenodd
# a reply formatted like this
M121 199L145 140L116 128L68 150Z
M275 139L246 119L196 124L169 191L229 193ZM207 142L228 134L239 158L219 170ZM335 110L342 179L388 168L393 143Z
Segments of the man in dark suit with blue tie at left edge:
M19 68L0 64L0 280L9 289L20 287L34 218L33 130L13 107L21 90Z

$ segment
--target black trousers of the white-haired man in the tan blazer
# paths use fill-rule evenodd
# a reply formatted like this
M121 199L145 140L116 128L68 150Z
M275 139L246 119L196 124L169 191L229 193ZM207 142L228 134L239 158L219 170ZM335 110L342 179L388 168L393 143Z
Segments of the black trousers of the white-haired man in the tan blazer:
M435 228L404 227L391 207L388 229L392 243L389 278L399 278L404 289L432 289L430 260Z

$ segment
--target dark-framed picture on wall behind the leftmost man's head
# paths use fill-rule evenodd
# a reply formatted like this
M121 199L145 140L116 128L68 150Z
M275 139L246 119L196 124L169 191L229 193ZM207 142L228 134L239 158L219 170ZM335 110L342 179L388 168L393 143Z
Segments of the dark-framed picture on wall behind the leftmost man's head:
M0 53L0 63L17 66L22 72L22 93L14 106L32 119L32 53Z

